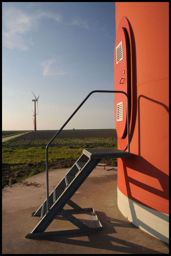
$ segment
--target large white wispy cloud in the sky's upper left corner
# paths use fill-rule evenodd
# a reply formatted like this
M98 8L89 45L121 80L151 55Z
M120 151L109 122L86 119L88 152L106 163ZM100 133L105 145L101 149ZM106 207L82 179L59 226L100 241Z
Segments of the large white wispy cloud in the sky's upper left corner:
M29 32L38 27L38 20L42 18L54 19L58 23L78 26L84 29L92 28L87 20L83 20L80 17L74 18L71 22L66 23L58 13L37 11L30 15L13 8L4 10L3 12L3 45L9 49L28 50L30 45L33 45L32 39L28 38Z

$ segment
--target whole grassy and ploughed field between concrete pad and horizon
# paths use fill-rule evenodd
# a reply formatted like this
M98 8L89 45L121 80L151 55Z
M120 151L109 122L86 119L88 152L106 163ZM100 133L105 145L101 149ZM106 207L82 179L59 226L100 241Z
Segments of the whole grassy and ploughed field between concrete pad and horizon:
M106 137L96 137L101 135L101 131L97 131L62 131L64 133L61 137L68 138L54 139L48 151L49 168L71 167L84 148L117 147L115 131L111 133L111 130L103 130ZM74 138L70 138L70 132ZM54 134L52 131L30 132L2 143L2 187L45 171L45 148ZM103 159L103 162L117 166L117 159Z

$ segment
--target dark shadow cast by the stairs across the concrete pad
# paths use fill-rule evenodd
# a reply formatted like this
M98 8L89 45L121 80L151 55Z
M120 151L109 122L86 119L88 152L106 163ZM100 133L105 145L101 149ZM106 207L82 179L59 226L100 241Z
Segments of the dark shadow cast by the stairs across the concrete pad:
M96 233L77 233L77 234L65 234L65 235L58 235L58 236L46 236L46 237L39 237L39 238L29 238L33 240L45 240L45 241L53 241L57 243L64 243L64 244L72 244L75 246L83 246L83 247L90 247L96 248L101 250L109 250L113 252L119 253L129 253L129 254L165 254L164 252L158 252L156 250L150 249L145 246L140 246L136 243L132 243L117 237L112 236L116 234L115 227L120 228L134 228L138 229L135 225L128 221L110 218L107 217L104 212L96 211L98 218L103 226L103 230L96 232ZM57 216L56 219L65 220L61 216ZM84 221L83 219L79 219ZM86 223L87 224L87 223ZM122 232L122 231L121 231ZM136 232L136 231L135 231ZM86 237L89 241L81 240L81 237ZM138 234L137 234L138 236Z

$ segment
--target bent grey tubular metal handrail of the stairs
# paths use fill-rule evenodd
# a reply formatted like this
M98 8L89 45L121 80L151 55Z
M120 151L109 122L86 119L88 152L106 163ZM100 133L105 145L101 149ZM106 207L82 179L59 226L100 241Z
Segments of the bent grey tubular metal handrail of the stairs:
M123 91L105 91L105 90L96 90L90 92L87 97L81 102L78 108L72 113L72 115L68 118L68 120L62 125L62 127L58 130L58 132L54 135L54 137L49 141L46 146L46 194L47 194L47 212L49 211L49 177L48 177L48 147L52 143L52 141L57 137L57 135L61 132L61 130L66 126L66 124L71 120L71 118L77 113L77 111L81 108L84 102L90 97L94 92L108 92L108 93L123 93L126 95L127 99L127 131L128 131L128 153L129 153L129 104L128 104L128 95Z

